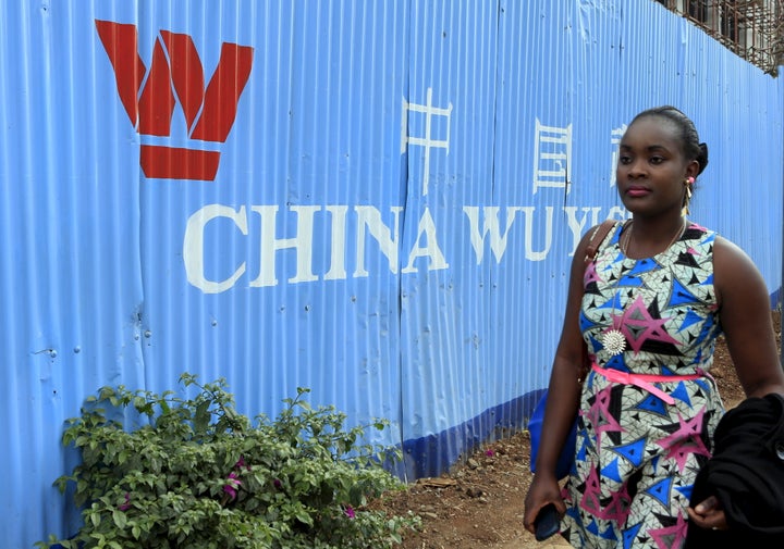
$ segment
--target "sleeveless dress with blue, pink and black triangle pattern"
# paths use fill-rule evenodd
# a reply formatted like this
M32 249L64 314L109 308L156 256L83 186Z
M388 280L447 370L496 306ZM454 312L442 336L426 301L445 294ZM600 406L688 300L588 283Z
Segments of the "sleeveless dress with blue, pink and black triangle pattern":
M580 401L575 467L564 489L562 535L574 547L679 548L691 487L724 413L713 363L721 333L713 290L715 233L689 222L648 259L626 258L610 232L586 269L580 329L595 364L625 373L687 376L650 390L591 371ZM613 327L626 349L611 355Z

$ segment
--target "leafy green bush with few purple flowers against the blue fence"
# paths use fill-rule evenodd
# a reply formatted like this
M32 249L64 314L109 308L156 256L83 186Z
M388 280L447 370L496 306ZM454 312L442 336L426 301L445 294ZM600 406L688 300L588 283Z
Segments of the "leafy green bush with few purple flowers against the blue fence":
M362 444L366 427L346 429L333 407L311 408L308 389L284 399L274 422L259 415L252 424L234 409L225 379L180 380L198 396L103 387L69 420L63 444L82 462L54 485L64 492L75 484L83 526L38 547L389 548L419 526L411 513L365 507L403 487L383 467L400 450ZM131 407L145 425L126 429L113 419L132 415Z

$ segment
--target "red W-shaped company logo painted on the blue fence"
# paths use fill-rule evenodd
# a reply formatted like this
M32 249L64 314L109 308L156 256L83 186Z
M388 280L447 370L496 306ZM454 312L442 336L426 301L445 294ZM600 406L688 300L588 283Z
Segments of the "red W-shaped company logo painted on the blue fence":
M161 30L147 71L138 54L135 25L96 20L96 27L114 70L120 100L140 135L169 137L179 100L188 139L212 146L225 142L250 76L253 48L223 42L205 89L201 59L188 35ZM150 178L213 180L219 161L217 150L142 145L142 171Z

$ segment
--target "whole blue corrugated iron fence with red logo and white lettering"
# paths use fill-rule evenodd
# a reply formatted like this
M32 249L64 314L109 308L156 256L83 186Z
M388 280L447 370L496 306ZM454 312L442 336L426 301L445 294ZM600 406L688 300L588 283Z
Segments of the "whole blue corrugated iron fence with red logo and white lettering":
M7 2L0 72L7 547L77 527L51 482L101 385L309 387L409 477L524 425L645 108L695 118L693 217L781 287L781 80L656 2Z

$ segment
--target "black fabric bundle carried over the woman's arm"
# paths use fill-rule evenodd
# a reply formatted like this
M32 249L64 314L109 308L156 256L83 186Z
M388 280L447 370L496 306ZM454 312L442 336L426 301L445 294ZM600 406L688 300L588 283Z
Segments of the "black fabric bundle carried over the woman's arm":
M691 507L711 495L721 501L730 531L689 523L686 547L784 547L784 397L746 399L719 422Z

